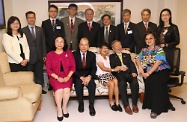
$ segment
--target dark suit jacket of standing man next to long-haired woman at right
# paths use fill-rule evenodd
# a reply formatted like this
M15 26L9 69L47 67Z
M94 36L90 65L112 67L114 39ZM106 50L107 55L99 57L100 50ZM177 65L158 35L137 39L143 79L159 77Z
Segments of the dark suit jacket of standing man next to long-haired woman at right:
M148 29L157 34L157 25L155 23L149 22ZM136 24L135 42L136 42L136 53L137 54L140 53L142 48L146 46L145 40L144 40L145 32L146 32L146 28L145 28L143 21Z

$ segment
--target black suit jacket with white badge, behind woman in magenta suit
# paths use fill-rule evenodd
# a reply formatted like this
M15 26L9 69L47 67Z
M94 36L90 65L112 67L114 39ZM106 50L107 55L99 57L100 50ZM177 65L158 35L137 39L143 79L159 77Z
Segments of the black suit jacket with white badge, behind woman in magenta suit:
M64 24L60 20L56 19L55 31L53 31L53 27L51 24L51 20L47 19L42 22L42 28L45 34L45 43L46 43L46 50L47 53L55 50L54 41L57 36L65 37L64 32Z

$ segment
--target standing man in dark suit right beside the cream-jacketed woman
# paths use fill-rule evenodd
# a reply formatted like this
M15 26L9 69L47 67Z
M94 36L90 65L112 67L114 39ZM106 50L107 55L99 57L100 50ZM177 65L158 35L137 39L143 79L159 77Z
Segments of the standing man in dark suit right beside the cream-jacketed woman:
M45 61L46 56L45 36L42 28L35 25L35 13L32 11L28 11L25 15L28 25L22 28L22 30L27 37L30 49L30 61L28 64L28 70L34 72L35 83L40 84L43 87L43 62ZM46 91L42 90L42 94L46 93Z

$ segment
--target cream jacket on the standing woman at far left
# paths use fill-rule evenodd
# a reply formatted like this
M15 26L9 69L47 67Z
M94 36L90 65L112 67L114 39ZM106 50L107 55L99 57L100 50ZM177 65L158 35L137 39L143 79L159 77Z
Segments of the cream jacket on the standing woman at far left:
M19 34L18 37L21 37ZM25 54L25 59L29 60L30 50L25 34L20 38L22 41L23 52ZM16 35L10 36L7 33L3 34L2 43L5 49L5 52L8 55L9 63L19 64L23 58L20 56L21 50L19 46L19 41Z

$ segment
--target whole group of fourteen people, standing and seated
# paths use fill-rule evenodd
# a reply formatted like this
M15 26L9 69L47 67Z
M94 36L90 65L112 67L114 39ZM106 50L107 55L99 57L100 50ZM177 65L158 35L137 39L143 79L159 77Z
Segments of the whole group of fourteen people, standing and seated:
M24 28L21 28L16 16L11 16L2 40L11 71L33 71L35 83L42 87L45 62L51 86L48 90L53 89L55 94L57 119L62 121L64 117L69 117L67 104L72 84L79 102L78 111L84 112L83 87L86 86L89 113L91 116L96 114L95 79L108 87L109 106L113 111L123 111L119 102L120 94L127 114L139 112L138 72L131 56L122 53L123 49L137 53L135 62L145 82L142 108L151 109L151 118L168 109L175 110L166 86L170 69L166 56L180 42L178 27L171 21L171 11L161 11L158 27L149 21L149 9L142 10L142 21L138 24L130 21L131 11L124 9L122 23L117 27L110 24L111 16L104 14L101 18L104 26L100 27L93 21L93 9L85 10L86 21L76 17L77 10L76 4L70 4L69 16L59 20L57 6L50 5L49 19L42 22L42 27L35 25L36 15L33 11L25 14L28 25ZM100 53L95 55L89 51L89 47L99 47ZM114 53L109 55L110 49ZM72 50L75 51L72 53ZM132 107L128 102L127 82L132 92ZM47 92L42 90L42 93Z

